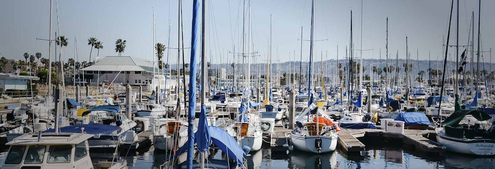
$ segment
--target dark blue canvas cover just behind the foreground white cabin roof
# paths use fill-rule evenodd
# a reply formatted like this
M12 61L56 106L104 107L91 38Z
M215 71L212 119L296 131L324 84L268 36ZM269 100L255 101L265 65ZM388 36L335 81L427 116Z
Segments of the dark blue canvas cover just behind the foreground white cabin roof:
M111 134L113 131L118 131L121 128L111 125L101 125L101 124L89 124L89 125L72 125L66 127L60 127L60 132L70 132L70 133L81 133L81 128L84 127L84 132L88 134ZM55 128L43 131L45 132L55 132Z

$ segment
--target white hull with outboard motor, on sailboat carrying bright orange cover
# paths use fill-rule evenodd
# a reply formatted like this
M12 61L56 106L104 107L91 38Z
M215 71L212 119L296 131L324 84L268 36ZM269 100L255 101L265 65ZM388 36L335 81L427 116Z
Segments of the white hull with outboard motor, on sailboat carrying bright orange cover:
M317 150L315 145L316 139L321 139L321 149ZM291 141L294 148L297 150L312 152L312 153L327 153L335 151L337 147L337 135L333 136L304 136L295 133L291 133Z

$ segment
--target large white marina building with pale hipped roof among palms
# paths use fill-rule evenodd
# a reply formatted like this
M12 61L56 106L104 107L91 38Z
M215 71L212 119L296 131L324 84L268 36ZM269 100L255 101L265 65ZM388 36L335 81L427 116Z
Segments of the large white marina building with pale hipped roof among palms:
M85 77L90 77L90 83L142 85L149 91L157 86L165 88L163 70L155 66L153 71L152 61L137 57L106 56L102 59L95 59L92 66L83 68L81 71L86 75ZM170 86L175 86L174 81L167 81L166 88L170 89Z

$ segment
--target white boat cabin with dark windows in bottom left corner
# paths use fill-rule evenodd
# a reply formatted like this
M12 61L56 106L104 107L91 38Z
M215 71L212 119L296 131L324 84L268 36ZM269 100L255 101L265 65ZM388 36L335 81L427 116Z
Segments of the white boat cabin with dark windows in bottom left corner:
M85 133L25 134L6 143L10 148L2 169L90 169Z

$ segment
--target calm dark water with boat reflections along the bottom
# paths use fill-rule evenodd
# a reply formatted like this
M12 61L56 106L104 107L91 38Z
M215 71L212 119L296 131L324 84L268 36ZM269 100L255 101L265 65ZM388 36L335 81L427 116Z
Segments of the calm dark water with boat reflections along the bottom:
M312 155L301 152L271 152L261 149L247 157L249 169L493 169L494 158L475 158L447 153L444 156L428 156L410 150L395 147L369 146L372 150L359 154L347 155L336 151L324 155ZM130 169L158 169L165 160L165 154L154 151L134 152L133 157L126 158ZM0 153L3 163L5 150ZM111 153L92 153L95 158L111 157ZM220 159L217 152L214 158Z

